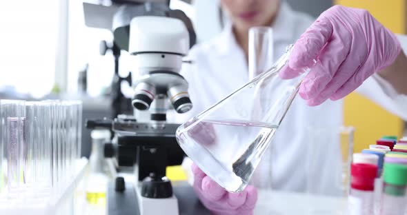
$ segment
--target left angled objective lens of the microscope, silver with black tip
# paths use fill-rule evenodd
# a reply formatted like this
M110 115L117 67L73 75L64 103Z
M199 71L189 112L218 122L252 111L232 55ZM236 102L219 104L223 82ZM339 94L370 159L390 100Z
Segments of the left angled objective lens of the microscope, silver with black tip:
M155 97L155 87L149 83L139 83L136 86L132 105L137 110L148 110Z

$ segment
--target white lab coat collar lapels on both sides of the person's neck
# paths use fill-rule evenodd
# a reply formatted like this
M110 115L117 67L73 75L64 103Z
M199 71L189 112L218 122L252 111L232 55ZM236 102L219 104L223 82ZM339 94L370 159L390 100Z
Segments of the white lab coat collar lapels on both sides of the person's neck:
M272 37L275 42L290 43L294 40L294 30L295 30L295 11L293 11L290 6L285 1L281 1L280 9L277 12L277 17L272 23ZM235 39L235 35L232 32L232 24L227 23L222 30L220 38L217 40L217 52L219 55L230 54L231 50L239 47Z

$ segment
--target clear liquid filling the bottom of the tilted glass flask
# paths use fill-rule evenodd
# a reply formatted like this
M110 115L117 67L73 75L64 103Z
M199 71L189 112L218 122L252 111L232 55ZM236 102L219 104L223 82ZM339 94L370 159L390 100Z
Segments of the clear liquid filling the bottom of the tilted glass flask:
M232 120L192 120L177 130L181 148L229 192L248 184L277 126Z

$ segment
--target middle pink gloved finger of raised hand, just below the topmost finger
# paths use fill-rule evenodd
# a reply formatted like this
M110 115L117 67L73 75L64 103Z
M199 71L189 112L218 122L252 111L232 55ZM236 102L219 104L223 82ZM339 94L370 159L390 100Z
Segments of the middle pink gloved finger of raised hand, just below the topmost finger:
M340 47L340 49L338 49ZM319 61L305 76L299 87L299 95L303 99L314 99L332 80L341 63L346 59L350 41L335 37L319 53Z

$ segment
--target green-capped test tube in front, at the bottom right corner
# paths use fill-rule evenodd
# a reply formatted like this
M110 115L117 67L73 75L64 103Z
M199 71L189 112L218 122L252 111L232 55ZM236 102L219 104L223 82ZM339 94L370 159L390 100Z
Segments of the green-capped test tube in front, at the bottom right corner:
M406 214L407 165L384 164L384 187L380 215Z

